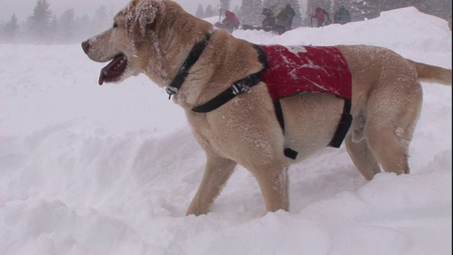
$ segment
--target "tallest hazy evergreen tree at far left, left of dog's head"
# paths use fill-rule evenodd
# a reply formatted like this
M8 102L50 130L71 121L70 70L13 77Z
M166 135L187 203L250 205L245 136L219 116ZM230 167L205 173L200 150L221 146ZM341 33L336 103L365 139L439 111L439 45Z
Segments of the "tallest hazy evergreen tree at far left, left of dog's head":
M37 0L33 15L30 16L30 35L38 42L47 42L50 38L50 23L52 22L52 11L47 0Z

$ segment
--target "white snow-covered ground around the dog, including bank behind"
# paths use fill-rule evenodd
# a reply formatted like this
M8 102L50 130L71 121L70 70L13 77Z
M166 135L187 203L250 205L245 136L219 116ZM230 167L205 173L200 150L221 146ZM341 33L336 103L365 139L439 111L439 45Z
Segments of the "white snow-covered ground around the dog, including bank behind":
M217 20L215 20L217 21ZM447 22L403 8L251 42L367 44L452 68ZM292 166L289 212L238 167L185 216L205 164L183 110L144 76L97 85L80 45L0 45L0 254L452 254L452 88L423 84L411 174L365 181L345 147Z

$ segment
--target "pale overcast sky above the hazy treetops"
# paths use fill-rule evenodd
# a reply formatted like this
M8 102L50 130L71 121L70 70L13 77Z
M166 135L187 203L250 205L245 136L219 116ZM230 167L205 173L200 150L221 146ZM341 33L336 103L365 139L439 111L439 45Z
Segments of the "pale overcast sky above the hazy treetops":
M52 13L59 17L64 11L69 8L74 8L76 16L92 16L96 8L105 5L108 9L111 8L113 13L117 13L130 0L47 0L50 4ZM217 8L219 0L176 0L185 11L195 14L198 4L202 4L204 8L208 4ZM241 0L231 0L231 8L241 3ZM16 14L19 22L25 21L25 18L33 13L36 0L0 0L0 21L9 21L13 14Z

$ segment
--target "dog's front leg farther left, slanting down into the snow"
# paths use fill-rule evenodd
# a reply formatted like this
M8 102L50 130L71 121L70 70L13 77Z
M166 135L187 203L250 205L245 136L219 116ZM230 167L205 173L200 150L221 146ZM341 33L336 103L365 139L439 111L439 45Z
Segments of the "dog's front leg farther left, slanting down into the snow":
M210 210L226 181L233 173L236 162L207 153L206 169L186 215L202 215Z

